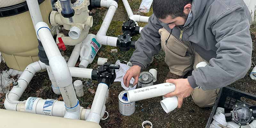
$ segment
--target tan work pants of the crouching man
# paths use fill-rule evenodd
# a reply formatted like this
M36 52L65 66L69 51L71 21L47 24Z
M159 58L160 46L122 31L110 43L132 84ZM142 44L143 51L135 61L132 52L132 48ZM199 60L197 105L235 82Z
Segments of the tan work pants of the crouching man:
M196 65L199 62L207 62L194 51L194 48L191 47L189 42L183 42L180 39L177 39L170 35L164 28L159 29L158 32L161 35L161 46L165 52L164 61L169 66L171 73L184 76L189 70L192 70L192 68L196 70ZM219 90L220 89L204 91L201 88L196 88L191 96L195 104L199 107L210 107L214 105Z

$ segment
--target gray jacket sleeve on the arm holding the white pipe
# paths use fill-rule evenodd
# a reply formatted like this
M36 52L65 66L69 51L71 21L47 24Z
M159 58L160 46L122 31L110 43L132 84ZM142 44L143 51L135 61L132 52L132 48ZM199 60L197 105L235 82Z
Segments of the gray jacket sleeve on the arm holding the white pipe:
M247 16L247 17L246 17ZM222 13L212 24L218 49L209 65L197 68L188 77L191 87L216 89L243 78L251 67L250 17L243 7Z

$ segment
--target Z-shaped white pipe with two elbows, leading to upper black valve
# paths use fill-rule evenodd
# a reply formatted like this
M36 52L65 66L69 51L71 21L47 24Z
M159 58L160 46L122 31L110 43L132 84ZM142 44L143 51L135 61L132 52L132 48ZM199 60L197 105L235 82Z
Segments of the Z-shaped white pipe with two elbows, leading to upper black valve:
M116 47L117 37L106 36L106 34L107 34L109 25L113 19L113 16L116 12L118 5L117 5L116 1L114 1L114 0L101 0L100 6L108 8L108 12L101 24L100 30L98 31L98 33L96 35L96 40L100 44Z

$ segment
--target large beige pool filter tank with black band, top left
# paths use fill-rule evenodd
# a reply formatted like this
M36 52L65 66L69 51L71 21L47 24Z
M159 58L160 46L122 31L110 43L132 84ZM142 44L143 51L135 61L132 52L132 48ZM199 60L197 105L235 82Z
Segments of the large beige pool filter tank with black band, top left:
M38 0L44 22L49 23L51 0ZM38 61L38 41L26 0L0 0L0 52L9 68L23 71Z

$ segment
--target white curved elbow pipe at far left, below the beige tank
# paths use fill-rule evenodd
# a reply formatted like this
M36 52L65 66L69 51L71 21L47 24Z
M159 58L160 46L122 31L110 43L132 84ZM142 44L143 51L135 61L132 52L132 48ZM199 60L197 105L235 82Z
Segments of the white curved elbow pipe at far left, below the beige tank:
M12 90L8 92L8 95L6 95L7 100L4 100L5 109L16 111L17 104L20 103L18 100L27 88L33 76L36 74L36 72L44 70L45 68L45 64L41 61L31 63L25 68L20 78L18 79L19 84L14 86Z

